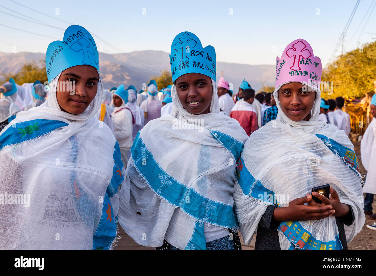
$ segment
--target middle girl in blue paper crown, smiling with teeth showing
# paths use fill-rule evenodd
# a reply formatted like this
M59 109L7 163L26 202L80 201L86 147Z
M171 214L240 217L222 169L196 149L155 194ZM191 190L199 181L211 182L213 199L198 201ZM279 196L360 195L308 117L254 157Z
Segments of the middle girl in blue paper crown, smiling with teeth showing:
M170 63L173 109L136 136L120 225L137 243L158 250L241 249L232 193L235 160L248 136L220 114L212 46L179 33Z

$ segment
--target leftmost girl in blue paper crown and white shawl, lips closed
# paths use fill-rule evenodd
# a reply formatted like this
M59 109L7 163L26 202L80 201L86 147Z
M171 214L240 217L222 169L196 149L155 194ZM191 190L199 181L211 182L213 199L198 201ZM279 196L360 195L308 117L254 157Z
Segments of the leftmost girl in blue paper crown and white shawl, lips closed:
M123 162L96 118L98 51L81 26L46 53L49 98L0 134L0 249L111 249Z

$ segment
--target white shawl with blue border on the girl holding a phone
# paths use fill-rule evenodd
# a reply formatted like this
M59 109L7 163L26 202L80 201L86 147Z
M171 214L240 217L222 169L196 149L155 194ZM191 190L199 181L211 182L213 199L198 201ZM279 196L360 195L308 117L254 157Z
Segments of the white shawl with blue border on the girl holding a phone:
M350 242L365 220L362 182L353 145L344 131L318 121L320 91L316 93L309 121L290 120L278 100L282 85L274 91L280 110L277 119L250 136L238 161L239 183L235 185L234 199L244 243L250 243L268 205L286 206L310 194L312 187L323 184L330 184L341 203L348 204L353 211L354 223L345 226ZM335 217L282 222L278 231L282 250L342 249Z

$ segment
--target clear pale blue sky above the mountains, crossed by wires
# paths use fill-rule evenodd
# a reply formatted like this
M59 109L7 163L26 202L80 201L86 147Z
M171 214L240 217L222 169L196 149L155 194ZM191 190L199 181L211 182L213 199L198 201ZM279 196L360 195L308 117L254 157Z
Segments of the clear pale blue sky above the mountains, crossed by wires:
M62 39L64 30L71 23L95 33L97 47L105 53L141 50L170 53L174 36L190 31L200 38L203 46L214 46L217 61L275 64L276 55L280 56L287 44L303 38L311 44L314 55L326 64L355 3L356 0L1 0L0 51L44 53L48 44L56 40L54 38ZM360 1L344 38L344 51L353 50L358 43L376 39L376 8L368 20L375 4L376 0ZM10 29L1 24L53 38ZM342 47L337 55L341 50Z

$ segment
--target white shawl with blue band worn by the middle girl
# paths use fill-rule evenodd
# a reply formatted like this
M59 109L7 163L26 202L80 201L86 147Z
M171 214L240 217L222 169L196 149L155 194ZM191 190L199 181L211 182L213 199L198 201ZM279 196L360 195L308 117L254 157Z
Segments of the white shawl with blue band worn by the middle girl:
M186 111L171 89L173 110L136 136L121 188L119 223L137 243L205 250L204 229L237 228L235 158L247 134L221 115L216 84L208 114Z

